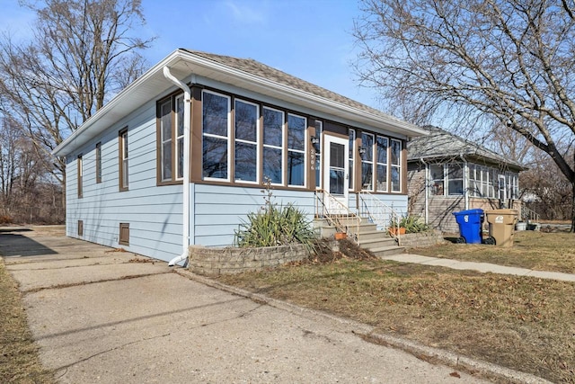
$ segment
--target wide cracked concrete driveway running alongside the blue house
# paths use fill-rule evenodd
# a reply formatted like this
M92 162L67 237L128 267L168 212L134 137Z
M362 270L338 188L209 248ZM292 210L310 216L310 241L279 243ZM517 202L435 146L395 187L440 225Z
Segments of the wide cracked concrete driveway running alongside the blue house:
M218 290L61 228L4 228L0 254L62 383L482 382L367 343L346 321Z

